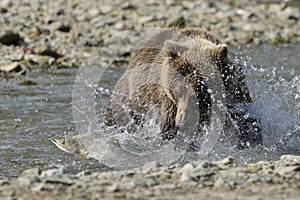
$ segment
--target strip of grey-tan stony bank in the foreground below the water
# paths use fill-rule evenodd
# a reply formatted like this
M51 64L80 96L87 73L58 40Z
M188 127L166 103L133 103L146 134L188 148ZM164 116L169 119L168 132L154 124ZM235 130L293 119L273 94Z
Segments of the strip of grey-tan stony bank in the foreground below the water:
M168 167L66 174L25 170L0 180L0 199L298 199L300 156L237 164L232 157Z

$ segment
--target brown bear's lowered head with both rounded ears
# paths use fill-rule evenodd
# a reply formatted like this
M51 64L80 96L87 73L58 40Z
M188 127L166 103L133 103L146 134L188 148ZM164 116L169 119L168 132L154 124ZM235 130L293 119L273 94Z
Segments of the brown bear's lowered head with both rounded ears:
M228 47L203 38L184 37L163 44L167 65L184 76L190 84L208 80L228 65ZM216 71L217 70L217 71Z

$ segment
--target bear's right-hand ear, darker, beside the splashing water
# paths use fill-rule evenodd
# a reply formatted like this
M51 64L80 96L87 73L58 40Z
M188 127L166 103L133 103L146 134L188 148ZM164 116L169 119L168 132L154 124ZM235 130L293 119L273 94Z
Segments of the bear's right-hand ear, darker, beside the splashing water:
M215 48L209 50L210 56L216 64L222 66L228 64L228 47L225 44L219 44Z

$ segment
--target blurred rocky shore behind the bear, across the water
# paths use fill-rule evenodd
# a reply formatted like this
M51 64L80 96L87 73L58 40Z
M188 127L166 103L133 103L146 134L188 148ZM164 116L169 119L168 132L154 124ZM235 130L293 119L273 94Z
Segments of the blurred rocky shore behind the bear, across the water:
M79 67L95 48L102 53L94 59L105 66L120 50L106 43L111 36L146 27L201 27L232 46L299 42L300 3L272 2L3 0L0 77L22 79L19 75L30 71ZM126 63L137 41L132 32L121 35Z

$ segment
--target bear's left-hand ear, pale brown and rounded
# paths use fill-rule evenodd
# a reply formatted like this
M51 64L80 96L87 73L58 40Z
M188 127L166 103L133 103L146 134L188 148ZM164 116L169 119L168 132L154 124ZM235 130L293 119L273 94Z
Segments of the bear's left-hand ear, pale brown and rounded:
M180 56L185 50L186 47L174 41L167 40L164 42L163 52L170 60Z

